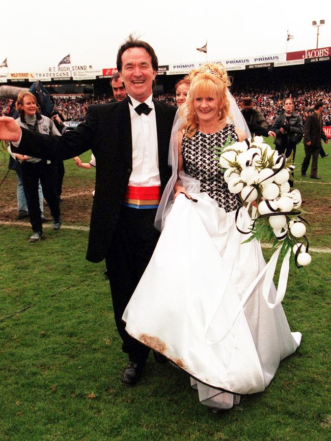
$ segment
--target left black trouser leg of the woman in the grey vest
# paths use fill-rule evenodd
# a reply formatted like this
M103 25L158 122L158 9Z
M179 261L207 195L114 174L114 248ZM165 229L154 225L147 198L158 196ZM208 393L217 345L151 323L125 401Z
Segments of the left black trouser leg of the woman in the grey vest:
M40 162L22 162L20 165L20 173L23 182L23 189L29 211L30 222L34 232L42 233L41 211L39 206L39 168Z

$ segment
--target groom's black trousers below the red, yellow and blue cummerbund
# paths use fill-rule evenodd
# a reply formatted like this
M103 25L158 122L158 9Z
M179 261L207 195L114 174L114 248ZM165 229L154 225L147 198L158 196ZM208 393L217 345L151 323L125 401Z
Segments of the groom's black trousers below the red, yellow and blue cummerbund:
M141 279L159 238L154 228L156 210L123 208L106 267L111 285L116 326L123 351L133 362L145 362L149 348L125 331L123 312Z

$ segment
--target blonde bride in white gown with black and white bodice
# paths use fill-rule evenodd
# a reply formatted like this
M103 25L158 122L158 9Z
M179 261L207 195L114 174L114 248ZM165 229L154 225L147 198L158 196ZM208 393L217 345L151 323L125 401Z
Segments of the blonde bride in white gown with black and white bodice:
M230 108L227 73L206 64L190 79L185 122L173 137L178 155L170 155L174 178L159 209L163 230L123 320L131 336L186 371L201 403L218 411L263 391L301 334L291 333L273 283L265 296L261 246L242 243L241 202L215 159L213 147L229 135L246 137L231 124L230 110L239 110ZM244 208L237 224L250 225Z

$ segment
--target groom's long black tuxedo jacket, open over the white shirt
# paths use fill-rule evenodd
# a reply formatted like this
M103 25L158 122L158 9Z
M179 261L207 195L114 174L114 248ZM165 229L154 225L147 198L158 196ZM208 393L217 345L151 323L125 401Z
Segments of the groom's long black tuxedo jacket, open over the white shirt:
M171 176L168 152L176 107L153 102L162 192ZM96 158L96 182L87 259L99 262L111 244L132 171L131 120L127 100L90 106L86 121L63 136L49 137L22 129L17 152L59 160L78 156L89 149Z

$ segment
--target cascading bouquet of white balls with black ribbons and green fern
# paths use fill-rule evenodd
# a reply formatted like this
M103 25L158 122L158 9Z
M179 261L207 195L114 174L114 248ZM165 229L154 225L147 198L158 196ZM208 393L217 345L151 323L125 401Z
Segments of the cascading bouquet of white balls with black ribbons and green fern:
M294 170L292 157L279 155L276 150L263 142L262 136L234 142L228 139L225 147L219 151L219 165L224 171L224 179L231 193L239 194L244 203L254 203L252 211L252 233L247 239L269 240L275 237L274 245L283 241L282 252L291 247L297 267L307 266L311 262L308 253L309 243L305 236L306 222L301 218L298 208L301 195L292 190L289 184ZM307 222L306 222L307 223ZM305 240L305 243L302 241Z

